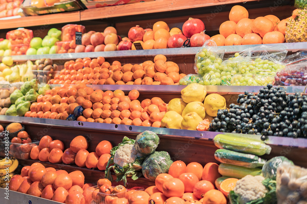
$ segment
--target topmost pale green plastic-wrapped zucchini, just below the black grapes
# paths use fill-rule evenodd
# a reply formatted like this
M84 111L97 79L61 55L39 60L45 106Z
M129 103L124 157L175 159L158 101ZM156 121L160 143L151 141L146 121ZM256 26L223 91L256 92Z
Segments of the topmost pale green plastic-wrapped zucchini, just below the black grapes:
M245 137L234 137L228 135L216 135L213 139L216 147L220 149L232 150L247 154L255 154L261 156L263 154L270 154L271 147L263 142L255 139L248 139Z

